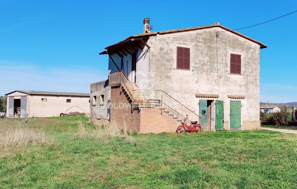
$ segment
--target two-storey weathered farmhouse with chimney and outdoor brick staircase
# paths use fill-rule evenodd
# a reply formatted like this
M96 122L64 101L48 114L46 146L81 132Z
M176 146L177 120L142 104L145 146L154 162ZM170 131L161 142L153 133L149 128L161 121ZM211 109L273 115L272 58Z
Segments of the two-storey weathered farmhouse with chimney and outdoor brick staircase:
M99 53L109 56L109 79L101 82L108 86L91 85L91 103L104 95L107 118L140 133L175 132L186 117L206 130L260 127L260 49L266 45L220 23L151 30L145 18L143 33Z

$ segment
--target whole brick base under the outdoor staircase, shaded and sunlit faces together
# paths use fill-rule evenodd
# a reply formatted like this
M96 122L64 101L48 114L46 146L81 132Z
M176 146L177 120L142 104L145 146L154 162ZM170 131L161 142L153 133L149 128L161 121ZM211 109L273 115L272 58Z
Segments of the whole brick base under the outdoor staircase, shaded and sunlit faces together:
M119 86L111 87L110 120L116 121L119 129L124 130L124 120L127 130L140 133L176 132L176 128L181 125L168 113L163 112L161 115L159 107L131 111L130 102Z

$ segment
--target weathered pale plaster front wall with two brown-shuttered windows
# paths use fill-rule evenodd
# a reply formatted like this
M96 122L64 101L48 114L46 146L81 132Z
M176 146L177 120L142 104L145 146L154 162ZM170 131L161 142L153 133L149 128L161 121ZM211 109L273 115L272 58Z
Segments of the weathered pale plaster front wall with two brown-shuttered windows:
M150 89L167 92L195 112L199 110L195 93L217 94L224 100L225 121L230 120L232 100L227 95L243 95L241 123L260 123L260 46L230 32L216 38L217 31L224 30L209 28L151 37ZM177 46L190 48L190 70L176 69ZM230 74L230 53L241 55L242 75Z

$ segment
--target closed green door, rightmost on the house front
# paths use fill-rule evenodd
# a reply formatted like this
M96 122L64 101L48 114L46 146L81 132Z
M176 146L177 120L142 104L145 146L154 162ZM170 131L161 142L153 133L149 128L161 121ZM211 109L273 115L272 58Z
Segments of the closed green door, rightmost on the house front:
M241 101L230 101L230 129L241 128Z

